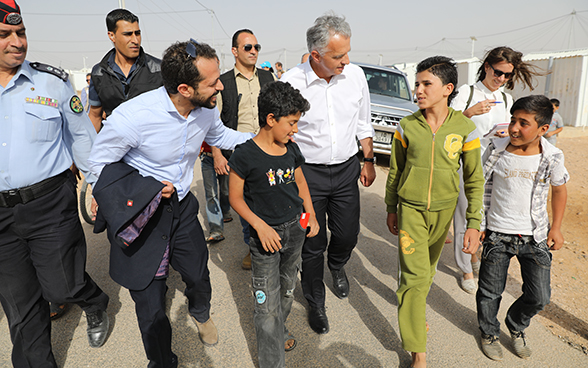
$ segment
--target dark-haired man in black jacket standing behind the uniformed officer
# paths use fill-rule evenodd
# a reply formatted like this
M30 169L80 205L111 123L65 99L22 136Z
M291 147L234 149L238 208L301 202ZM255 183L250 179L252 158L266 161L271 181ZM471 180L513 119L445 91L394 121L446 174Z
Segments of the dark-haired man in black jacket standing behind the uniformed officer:
M118 105L163 85L161 60L141 47L139 18L126 9L115 9L106 16L106 28L114 48L92 68L89 91L90 119L97 132L102 118Z

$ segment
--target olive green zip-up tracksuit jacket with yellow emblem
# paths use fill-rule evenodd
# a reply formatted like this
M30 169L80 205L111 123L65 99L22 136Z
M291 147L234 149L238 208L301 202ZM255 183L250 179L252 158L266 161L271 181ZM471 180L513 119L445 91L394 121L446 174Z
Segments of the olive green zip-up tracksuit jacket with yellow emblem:
M460 111L449 108L435 134L421 110L406 116L392 140L385 199L388 213L396 213L399 200L421 211L455 207L461 165L468 199L467 227L479 230L484 192L480 156L476 125Z

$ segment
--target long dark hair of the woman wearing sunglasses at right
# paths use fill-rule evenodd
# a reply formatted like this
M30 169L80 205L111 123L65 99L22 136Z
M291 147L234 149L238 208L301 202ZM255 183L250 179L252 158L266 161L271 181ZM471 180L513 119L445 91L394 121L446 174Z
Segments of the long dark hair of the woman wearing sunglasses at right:
M484 61L478 69L478 82L486 78L486 64L494 66L501 61L506 61L514 67L512 70L514 75L505 84L508 89L513 89L515 82L522 81L525 85L529 86L532 91L535 89L533 87L533 77L544 74L537 71L537 67L533 64L524 62L523 53L515 51L510 47L500 46L488 51L484 57ZM525 86L523 86L523 89L524 88Z

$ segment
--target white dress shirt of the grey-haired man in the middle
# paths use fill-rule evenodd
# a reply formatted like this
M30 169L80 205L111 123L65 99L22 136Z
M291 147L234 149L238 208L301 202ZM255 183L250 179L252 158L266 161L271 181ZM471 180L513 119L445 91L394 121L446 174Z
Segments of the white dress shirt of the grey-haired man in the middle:
M357 153L356 140L374 136L369 89L359 66L345 66L343 73L327 83L307 61L290 69L280 81L290 83L310 102L294 135L307 163L345 162Z

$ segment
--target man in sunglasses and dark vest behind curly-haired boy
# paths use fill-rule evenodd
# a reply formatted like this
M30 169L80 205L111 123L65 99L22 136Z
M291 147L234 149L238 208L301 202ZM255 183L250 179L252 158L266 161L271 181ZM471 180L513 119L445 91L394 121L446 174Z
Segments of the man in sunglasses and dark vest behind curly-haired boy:
M225 87L218 99L221 120L227 127L240 132L256 134L259 132L257 96L261 87L275 80L271 72L256 67L260 50L261 45L251 30L241 29L235 32L231 48L235 56L235 67L220 77ZM206 201L208 204L207 217L211 228L209 239L211 240L218 236L219 231L222 231L221 220L224 218L230 221L231 218L229 213L229 167L227 165L231 153L232 151L221 152L216 147L205 147L201 156L203 182L210 189L207 192ZM216 188L214 182L217 179L220 193L214 192ZM215 201L215 197L218 200ZM221 211L223 216L214 215ZM243 226L243 240L249 245L249 224L241 219L241 225ZM247 248L249 249L249 247ZM251 255L249 253L243 259L242 267L246 270L251 269Z

